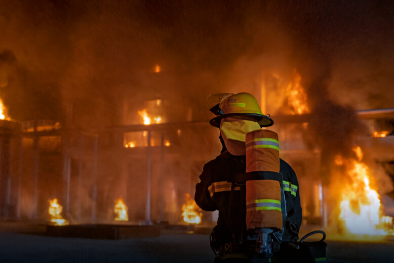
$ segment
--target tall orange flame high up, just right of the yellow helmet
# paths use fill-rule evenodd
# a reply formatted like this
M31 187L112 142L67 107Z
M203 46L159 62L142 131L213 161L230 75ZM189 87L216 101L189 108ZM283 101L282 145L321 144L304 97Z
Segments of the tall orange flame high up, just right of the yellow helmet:
M293 81L287 86L288 103L293 108L292 114L309 113L307 97L304 88L301 86L301 76L294 70Z

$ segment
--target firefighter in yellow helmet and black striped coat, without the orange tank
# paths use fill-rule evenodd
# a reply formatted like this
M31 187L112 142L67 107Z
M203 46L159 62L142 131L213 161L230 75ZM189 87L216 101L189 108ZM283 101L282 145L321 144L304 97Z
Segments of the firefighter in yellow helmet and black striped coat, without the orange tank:
M210 110L216 115L210 124L220 130L220 155L204 165L201 182L195 186L194 200L206 211L219 210L217 225L210 240L216 254L214 262L267 262L252 259L246 242L245 184L234 184L235 174L245 173L245 136L273 124L263 115L256 98L249 93L218 96L219 103ZM280 174L284 198L282 242L298 240L301 225L301 205L298 181L291 166L280 159ZM260 261L259 261L260 260ZM261 261L262 260L262 261Z

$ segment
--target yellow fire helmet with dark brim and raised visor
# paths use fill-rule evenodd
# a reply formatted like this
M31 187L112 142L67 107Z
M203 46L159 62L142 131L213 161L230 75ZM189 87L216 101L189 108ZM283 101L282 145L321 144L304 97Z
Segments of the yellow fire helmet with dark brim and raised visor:
M259 103L250 93L214 94L209 96L207 101L212 103L214 98L217 98L218 102L213 107L210 107L210 111L216 115L215 118L209 121L212 126L220 127L220 120L223 117L254 120L260 124L260 127L268 127L273 124L269 114L264 115L261 113Z

